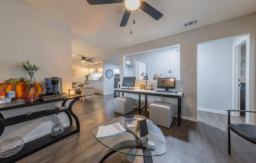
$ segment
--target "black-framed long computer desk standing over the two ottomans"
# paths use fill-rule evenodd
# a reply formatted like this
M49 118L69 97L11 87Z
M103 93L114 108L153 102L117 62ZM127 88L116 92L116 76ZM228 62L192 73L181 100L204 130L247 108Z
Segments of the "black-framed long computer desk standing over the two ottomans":
M180 125L180 119L181 119L181 100L182 96L174 95L174 94L159 94L154 92L143 92L143 91L136 91L136 90L121 90L121 89L114 89L114 98L116 98L115 93L116 92L122 92L122 96L124 96L124 93L131 93L131 94L138 94L139 95L139 115L141 115L141 110L145 109L147 110L147 96L159 96L159 97L167 97L167 98L176 98L178 100L178 126ZM141 95L145 95L145 106L141 108Z

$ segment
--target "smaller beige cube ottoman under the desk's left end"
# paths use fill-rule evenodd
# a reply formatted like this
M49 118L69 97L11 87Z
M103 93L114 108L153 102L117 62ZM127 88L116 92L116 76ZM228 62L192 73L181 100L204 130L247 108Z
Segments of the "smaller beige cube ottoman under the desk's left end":
M114 112L119 114L127 114L133 111L133 98L131 97L119 97L114 99Z

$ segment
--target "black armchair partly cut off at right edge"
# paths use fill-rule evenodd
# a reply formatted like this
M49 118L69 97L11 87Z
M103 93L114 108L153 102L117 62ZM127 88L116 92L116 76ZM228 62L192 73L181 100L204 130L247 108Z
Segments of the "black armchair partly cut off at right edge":
M228 111L228 127L229 127L229 154L230 152L230 130L238 134L242 138L250 141L251 143L256 144L256 125L244 124L244 123L232 123L230 124L230 112L254 112L254 111L245 111L245 110L227 110ZM256 112L254 112L256 113Z

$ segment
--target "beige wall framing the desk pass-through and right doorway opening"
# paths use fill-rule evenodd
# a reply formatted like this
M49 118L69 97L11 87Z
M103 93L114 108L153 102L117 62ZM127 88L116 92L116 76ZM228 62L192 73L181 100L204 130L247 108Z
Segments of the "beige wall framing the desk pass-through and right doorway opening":
M178 87L182 88L185 92L185 99L182 104L182 115L197 118L197 44L247 33L250 33L250 83L248 85L250 87L250 100L248 101L248 105L250 105L251 110L254 110L255 13L120 49L121 76L123 75L124 55L180 44L182 83L180 83ZM194 72L189 72L189 68L194 68ZM254 117L251 118L251 123L254 123Z

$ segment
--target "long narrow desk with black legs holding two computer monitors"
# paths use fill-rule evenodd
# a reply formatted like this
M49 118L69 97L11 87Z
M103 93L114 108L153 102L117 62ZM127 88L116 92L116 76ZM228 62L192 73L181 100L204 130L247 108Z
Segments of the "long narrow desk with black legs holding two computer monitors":
M134 90L128 90L128 89L114 89L114 98L116 98L115 93L116 92L122 92L122 96L124 96L124 93L132 93L132 94L138 94L139 95L139 115L141 115L141 109L147 110L147 96L159 96L159 97L167 97L167 98L176 98L178 100L178 126L180 124L181 119L181 101L183 97L182 92L178 93L165 93L165 92L156 92L151 90L143 90L143 89L134 89ZM145 106L141 108L141 94L145 95Z

